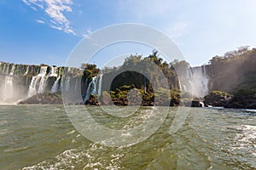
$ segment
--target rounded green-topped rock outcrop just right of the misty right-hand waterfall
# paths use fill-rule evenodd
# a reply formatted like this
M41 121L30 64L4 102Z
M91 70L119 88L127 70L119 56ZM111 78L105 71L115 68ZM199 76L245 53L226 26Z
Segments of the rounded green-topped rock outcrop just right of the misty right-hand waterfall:
M207 105L212 105L216 107L223 107L227 102L230 101L232 98L232 95L226 94L226 93L215 93L212 92L211 94L205 96L204 98L204 104Z

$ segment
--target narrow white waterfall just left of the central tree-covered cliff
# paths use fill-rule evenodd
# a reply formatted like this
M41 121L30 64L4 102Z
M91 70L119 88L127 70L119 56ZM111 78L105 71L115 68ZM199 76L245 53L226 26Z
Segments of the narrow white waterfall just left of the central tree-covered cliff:
M87 87L86 94L84 95L84 103L90 98L90 94L102 94L102 75L92 77L92 80Z

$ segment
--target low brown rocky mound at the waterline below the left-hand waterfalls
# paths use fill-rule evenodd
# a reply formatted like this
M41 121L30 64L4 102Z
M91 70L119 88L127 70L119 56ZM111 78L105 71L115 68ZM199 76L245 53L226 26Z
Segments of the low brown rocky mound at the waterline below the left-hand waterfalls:
M23 99L18 103L19 105L61 105L62 97L61 94L56 93L44 93L44 94L36 94L28 99Z

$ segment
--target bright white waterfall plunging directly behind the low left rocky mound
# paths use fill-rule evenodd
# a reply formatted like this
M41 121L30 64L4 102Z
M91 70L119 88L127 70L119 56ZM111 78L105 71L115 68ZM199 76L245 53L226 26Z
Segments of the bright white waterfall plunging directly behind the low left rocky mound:
M28 97L31 97L32 95L35 95L35 94L44 93L44 88L46 86L46 82L48 78L48 77L45 77L46 72L47 72L47 66L42 66L40 68L40 72L38 76L32 77L32 81L29 85L29 89L27 93Z

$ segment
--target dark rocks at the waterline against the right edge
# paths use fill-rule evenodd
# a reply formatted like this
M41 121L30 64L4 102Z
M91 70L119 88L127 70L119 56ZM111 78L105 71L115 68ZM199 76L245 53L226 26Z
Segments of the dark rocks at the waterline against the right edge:
M237 95L224 105L225 108L256 109L256 94Z

